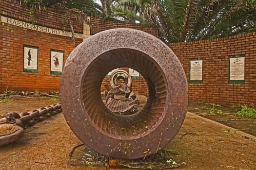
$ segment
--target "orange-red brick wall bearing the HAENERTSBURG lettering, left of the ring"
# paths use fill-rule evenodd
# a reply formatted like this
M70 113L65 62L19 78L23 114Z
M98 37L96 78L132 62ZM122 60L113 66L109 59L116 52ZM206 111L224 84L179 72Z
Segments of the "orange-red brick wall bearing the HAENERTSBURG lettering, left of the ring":
M36 25L70 31L69 25L63 25L61 12L47 8L47 11L36 12ZM31 22L29 8L20 0L1 0L0 15L24 22ZM91 17L96 34L112 28L134 28L158 36L154 27L145 25L131 25L123 22L105 21L101 23L97 17ZM72 21L76 33L82 33L83 25ZM1 23L2 24L2 23ZM82 39L76 39L76 46ZM38 73L23 72L23 45L39 47ZM64 51L64 61L75 47L71 37L47 34L6 24L0 27L0 91L29 90L29 91L59 91L59 75L50 74L50 50ZM105 78L104 81L109 81ZM133 89L139 94L147 94L147 85L143 79L133 81Z

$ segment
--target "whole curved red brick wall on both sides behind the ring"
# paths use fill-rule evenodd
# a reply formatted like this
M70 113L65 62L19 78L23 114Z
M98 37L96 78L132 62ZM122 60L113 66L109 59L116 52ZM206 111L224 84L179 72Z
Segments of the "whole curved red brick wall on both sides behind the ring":
M1 0L0 15L30 22L28 8L20 5L20 0ZM36 24L69 30L63 26L61 13L47 9L36 14ZM101 23L97 17L91 17L96 34L112 28L135 28L155 36L158 32L153 27L139 24L130 25L122 22L106 21ZM82 32L82 24L73 21L75 32ZM76 39L78 45L82 40ZM39 47L38 73L23 72L23 45ZM0 25L0 90L58 91L59 75L51 75L50 49L64 51L64 61L75 47L70 37L47 34L17 27ZM235 35L230 37L173 43L176 53L189 80L189 59L203 58L203 83L189 83L189 101L212 103L256 103L256 33ZM228 59L230 55L245 55L245 84L228 83ZM105 78L103 84L109 83ZM147 94L147 85L142 76L133 80L133 90L139 94Z

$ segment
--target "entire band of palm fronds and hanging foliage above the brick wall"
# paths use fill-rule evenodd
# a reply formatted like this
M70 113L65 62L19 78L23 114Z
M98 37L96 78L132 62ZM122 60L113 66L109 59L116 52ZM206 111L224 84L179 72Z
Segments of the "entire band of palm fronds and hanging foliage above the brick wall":
M54 7L87 20L96 14L102 21L114 18L152 24L165 43L217 38L256 31L256 0L21 0L35 10Z

